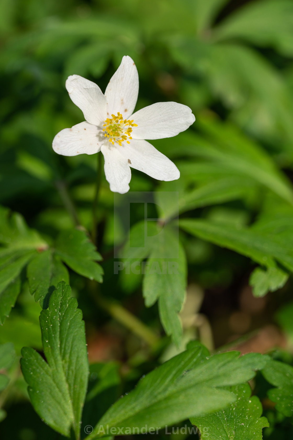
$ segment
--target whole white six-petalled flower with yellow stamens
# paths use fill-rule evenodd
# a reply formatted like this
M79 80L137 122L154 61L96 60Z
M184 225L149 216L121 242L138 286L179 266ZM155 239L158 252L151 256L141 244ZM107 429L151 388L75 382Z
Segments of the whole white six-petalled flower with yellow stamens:
M179 179L176 165L144 139L176 136L193 124L195 117L189 107L174 102L152 104L133 114L138 73L129 56L123 56L105 95L97 84L79 75L68 77L65 86L86 121L54 137L56 153L76 156L101 150L110 189L121 194L129 190L130 167L158 180Z

